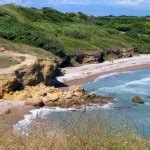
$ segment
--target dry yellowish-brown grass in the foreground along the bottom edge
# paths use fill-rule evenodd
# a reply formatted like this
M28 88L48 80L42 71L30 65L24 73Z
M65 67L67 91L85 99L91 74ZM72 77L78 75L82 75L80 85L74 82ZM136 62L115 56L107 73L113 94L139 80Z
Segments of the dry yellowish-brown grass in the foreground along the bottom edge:
M52 120L51 120L52 121ZM54 120L53 120L54 121ZM115 126L113 126L115 128ZM118 127L81 112L76 119L63 120L61 127L50 126L46 120L34 120L28 134L8 130L1 123L1 149L40 150L146 150L150 142L131 132L130 126Z

